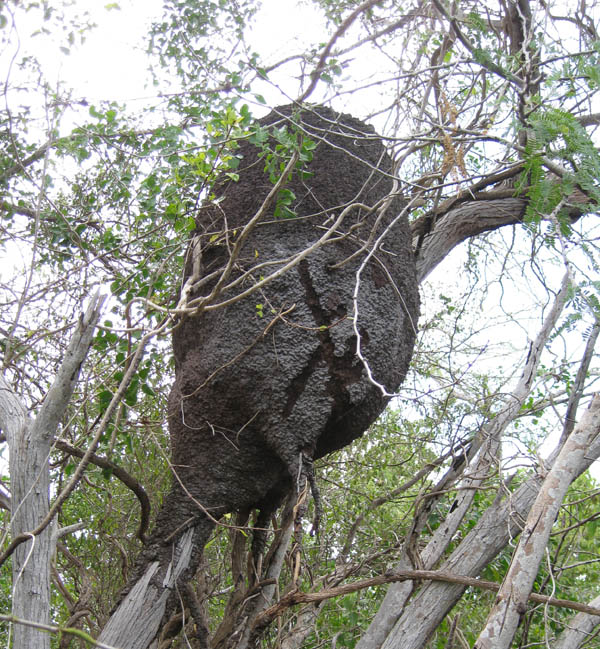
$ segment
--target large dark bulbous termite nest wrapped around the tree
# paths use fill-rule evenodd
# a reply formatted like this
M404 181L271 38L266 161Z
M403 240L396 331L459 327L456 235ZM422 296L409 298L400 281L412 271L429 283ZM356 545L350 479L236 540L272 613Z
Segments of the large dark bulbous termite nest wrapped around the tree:
M274 218L273 205L246 241L230 281L257 264L272 264L249 272L217 302L311 246L344 207L377 205L393 189L381 140L349 115L323 107L297 114L283 107L260 123L286 125L317 142L306 166L312 175L294 174L286 187L295 194L289 207L296 217ZM259 148L243 141L237 154L242 157L239 181L218 183L214 191L220 201L197 216L188 275L194 260L204 277L225 266L236 237L273 189ZM330 243L261 291L182 319L173 336L176 380L169 427L173 465L188 493L174 481L159 534L198 514L189 495L216 518L272 509L301 480L309 460L346 446L382 412L387 399L356 355L352 320L357 269L370 244L345 265L332 266L372 241L401 210L399 198L383 217L378 210L355 207ZM205 283L195 295L208 294L213 285ZM408 369L418 302L408 224L401 219L365 266L358 290L361 349L373 377L390 392Z

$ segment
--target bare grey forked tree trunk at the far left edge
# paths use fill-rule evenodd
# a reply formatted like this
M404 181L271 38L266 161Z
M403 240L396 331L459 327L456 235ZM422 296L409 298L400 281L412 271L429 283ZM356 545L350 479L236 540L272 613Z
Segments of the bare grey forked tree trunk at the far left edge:
M64 360L35 419L0 376L0 427L9 446L11 534L21 538L12 555L12 614L43 625L50 622L50 566L54 553L48 458L56 429L71 399L79 370L100 317L103 298L92 299L66 350ZM49 649L50 635L17 624L14 649Z

